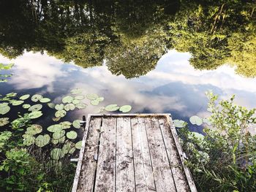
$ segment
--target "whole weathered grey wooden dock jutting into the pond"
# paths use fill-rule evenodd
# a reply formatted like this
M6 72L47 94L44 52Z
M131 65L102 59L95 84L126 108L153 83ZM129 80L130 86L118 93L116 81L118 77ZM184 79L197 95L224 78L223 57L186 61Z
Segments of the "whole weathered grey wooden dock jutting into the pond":
M170 114L89 115L72 191L197 191Z

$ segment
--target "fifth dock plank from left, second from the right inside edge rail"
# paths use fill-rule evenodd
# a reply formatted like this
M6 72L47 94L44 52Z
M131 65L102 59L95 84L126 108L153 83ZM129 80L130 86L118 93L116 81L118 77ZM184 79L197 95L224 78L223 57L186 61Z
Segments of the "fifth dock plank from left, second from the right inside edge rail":
M145 125L157 191L176 191L159 122L156 118L145 118Z

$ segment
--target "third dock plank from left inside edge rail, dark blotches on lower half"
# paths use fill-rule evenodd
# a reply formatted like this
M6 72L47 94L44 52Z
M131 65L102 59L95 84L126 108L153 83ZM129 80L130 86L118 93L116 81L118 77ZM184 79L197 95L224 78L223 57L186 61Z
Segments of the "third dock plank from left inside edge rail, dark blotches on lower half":
M117 118L116 191L135 191L134 172L130 118Z

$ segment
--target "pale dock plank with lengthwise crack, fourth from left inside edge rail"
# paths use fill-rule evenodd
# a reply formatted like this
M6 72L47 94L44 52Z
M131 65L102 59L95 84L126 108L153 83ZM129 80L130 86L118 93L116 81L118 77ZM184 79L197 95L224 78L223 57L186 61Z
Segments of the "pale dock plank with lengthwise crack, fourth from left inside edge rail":
M136 191L156 191L143 118L131 118Z

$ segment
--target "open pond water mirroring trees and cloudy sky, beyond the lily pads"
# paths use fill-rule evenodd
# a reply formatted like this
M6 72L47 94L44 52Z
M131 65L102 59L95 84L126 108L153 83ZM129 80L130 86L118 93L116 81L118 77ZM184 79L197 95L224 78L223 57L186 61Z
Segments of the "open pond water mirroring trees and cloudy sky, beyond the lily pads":
M0 93L39 93L59 103L82 88L105 97L63 120L130 104L132 112L188 121L207 117L208 90L256 107L254 7L255 1L1 1L0 63L15 66ZM0 117L14 119L18 111ZM37 123L52 124L54 110L43 112Z

